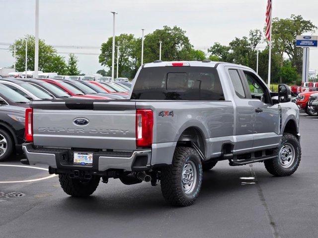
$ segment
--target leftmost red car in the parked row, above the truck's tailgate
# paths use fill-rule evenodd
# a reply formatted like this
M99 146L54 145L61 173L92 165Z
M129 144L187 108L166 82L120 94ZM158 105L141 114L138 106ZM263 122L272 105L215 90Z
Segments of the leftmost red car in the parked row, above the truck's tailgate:
M68 93L71 96L88 98L88 99L102 99L102 100L110 99L110 98L105 97L105 96L84 94L82 91L79 91L79 89L73 87L70 84L63 82L62 80L58 80L58 79L42 79L42 80L45 82L53 84L54 86L62 89L64 92Z

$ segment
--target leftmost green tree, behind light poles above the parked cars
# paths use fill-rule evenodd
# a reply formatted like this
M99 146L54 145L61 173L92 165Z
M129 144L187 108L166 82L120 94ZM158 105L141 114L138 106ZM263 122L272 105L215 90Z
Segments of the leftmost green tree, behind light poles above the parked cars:
M27 66L28 70L34 69L34 36L27 35L28 53ZM19 38L9 47L12 56L14 56L14 46L16 48L16 70L25 70L25 38ZM39 39L39 70L44 72L56 72L66 74L66 63L64 57L57 54L57 51L50 45L45 44L44 40Z

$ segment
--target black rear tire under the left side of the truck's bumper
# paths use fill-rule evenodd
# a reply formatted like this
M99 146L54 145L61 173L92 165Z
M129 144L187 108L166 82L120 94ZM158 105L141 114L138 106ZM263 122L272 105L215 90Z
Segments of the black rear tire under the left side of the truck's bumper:
M59 175L61 187L65 193L74 197L87 197L97 188L100 178L93 177L89 180L72 179L68 174Z

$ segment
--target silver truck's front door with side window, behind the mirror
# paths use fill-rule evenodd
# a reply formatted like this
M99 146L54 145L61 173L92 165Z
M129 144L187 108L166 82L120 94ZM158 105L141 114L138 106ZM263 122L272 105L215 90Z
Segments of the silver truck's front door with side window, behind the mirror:
M279 106L272 104L270 91L257 74L248 69L242 69L242 73L249 90L249 104L254 108L253 148L276 147L280 143Z

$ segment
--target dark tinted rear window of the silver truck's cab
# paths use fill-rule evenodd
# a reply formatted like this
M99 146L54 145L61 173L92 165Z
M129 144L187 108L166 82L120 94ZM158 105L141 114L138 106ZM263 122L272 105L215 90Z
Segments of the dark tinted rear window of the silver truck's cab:
M143 68L131 99L223 101L224 93L216 68Z

